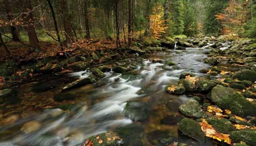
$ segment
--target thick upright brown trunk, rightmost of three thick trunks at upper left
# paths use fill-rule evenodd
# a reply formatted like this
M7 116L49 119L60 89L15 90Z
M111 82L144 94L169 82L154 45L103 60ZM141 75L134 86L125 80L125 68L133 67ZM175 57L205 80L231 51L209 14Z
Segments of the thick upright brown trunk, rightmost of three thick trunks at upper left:
M66 36L66 44L69 47L69 45L74 42L72 30L71 30L71 24L68 20L68 8L67 8L67 0L62 0L62 16L63 16L63 26L65 30L65 36Z

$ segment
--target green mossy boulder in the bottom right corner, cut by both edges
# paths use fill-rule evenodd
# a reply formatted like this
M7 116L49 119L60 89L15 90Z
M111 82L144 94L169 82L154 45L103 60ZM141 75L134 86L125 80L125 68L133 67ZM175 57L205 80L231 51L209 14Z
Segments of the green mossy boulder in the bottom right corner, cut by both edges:
M233 143L245 142L249 146L256 146L256 129L244 129L230 133Z

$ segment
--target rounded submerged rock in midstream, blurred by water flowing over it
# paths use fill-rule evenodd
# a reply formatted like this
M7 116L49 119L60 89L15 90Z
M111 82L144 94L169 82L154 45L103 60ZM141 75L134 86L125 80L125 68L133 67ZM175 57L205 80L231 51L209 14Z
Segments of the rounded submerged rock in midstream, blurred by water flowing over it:
M144 102L129 101L126 103L123 113L125 117L128 117L133 121L142 121L148 118L149 109Z

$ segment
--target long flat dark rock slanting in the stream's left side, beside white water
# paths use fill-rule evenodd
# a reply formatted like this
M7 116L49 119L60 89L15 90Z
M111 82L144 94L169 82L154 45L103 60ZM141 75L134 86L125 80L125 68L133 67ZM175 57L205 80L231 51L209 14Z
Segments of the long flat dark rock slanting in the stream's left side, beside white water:
M63 87L62 91L71 90L73 88L80 87L80 86L92 83L92 80L93 80L93 78L89 78L89 77L80 78L80 79L78 79L78 80L76 80L76 81L74 81L72 83L69 83L65 87Z

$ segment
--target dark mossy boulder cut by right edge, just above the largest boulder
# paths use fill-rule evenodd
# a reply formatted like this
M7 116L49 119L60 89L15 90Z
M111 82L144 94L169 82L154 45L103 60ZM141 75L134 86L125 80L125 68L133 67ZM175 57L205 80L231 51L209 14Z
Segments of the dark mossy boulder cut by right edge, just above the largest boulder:
M232 79L249 80L249 81L255 82L256 72L252 70L241 70L241 71L235 72L232 76Z

